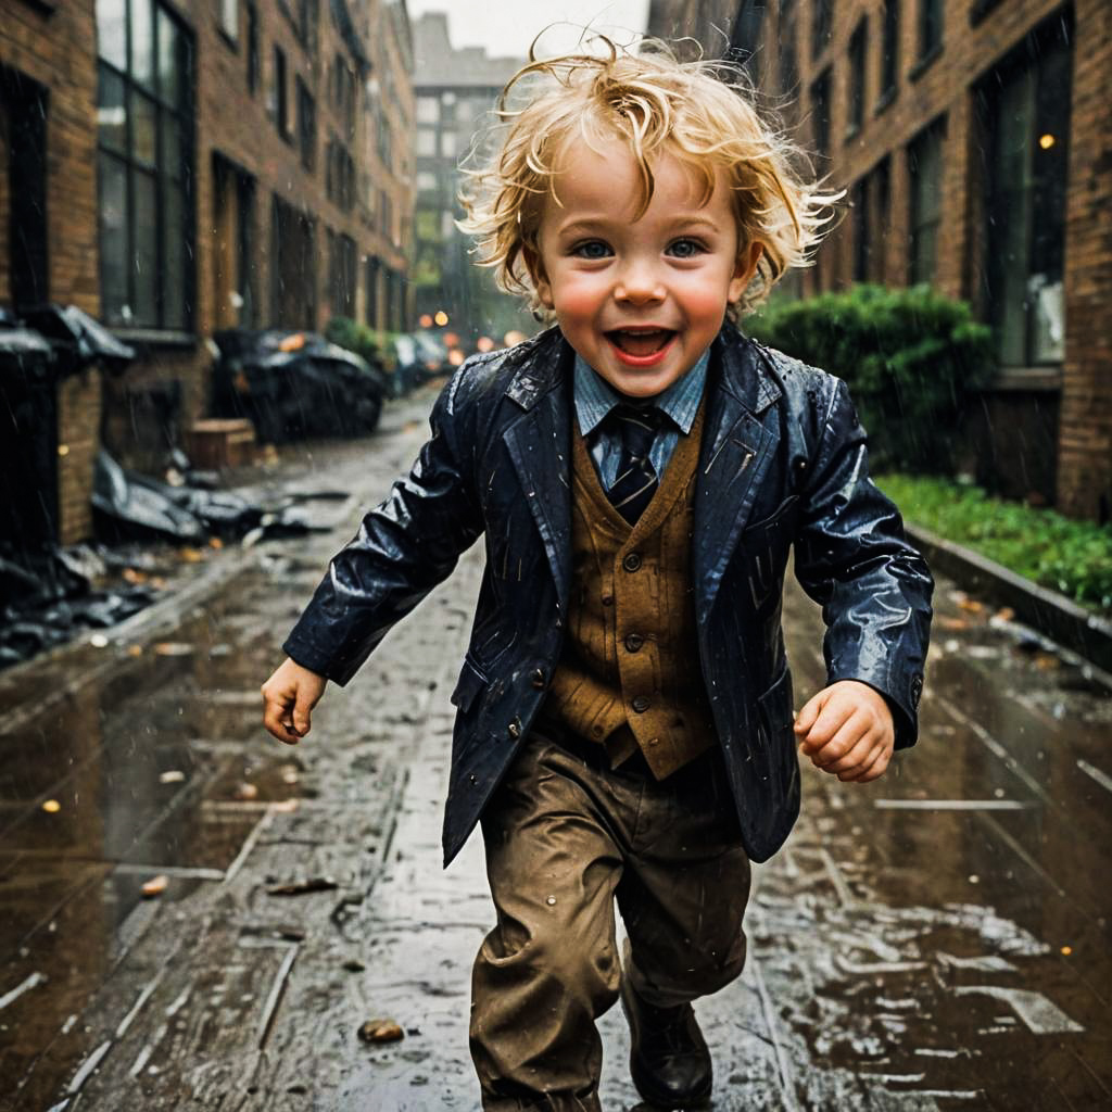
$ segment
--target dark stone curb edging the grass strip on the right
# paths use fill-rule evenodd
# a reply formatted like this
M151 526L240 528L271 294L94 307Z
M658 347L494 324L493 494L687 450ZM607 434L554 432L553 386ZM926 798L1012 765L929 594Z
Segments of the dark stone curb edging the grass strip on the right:
M905 524L904 530L932 567L957 579L963 588L1010 606L1025 625L1103 672L1112 672L1112 622L930 529Z

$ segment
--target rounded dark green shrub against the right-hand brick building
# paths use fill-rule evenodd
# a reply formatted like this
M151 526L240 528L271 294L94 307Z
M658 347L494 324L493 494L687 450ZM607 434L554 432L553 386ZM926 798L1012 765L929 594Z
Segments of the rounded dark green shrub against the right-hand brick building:
M874 467L956 470L957 418L995 369L992 332L930 287L855 286L749 318L755 339L850 385Z

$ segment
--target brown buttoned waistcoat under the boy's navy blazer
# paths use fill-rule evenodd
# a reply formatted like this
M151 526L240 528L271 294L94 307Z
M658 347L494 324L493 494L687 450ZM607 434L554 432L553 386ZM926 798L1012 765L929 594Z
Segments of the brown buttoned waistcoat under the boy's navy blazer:
M544 716L607 746L639 747L657 780L715 737L698 663L691 538L703 407L631 529L573 433L572 594ZM627 727L627 728L622 728Z

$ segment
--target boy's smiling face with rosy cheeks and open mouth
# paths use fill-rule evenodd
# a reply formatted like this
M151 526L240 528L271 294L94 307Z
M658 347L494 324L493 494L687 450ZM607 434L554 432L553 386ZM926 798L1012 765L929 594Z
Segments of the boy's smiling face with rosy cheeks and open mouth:
M542 302L576 351L619 394L651 398L683 377L718 334L761 257L738 252L723 175L699 205L702 182L672 155L653 166L656 188L634 220L639 177L615 141L605 155L568 150L545 202L535 268Z

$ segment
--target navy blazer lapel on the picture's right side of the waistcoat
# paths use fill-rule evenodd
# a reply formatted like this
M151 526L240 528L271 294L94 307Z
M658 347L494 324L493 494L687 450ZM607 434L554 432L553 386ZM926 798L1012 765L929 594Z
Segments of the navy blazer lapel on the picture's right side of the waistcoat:
M724 330L716 342L717 375L711 379L695 488L693 572L701 624L714 605L778 440L775 424L763 421L759 413L780 389L762 376L753 346L732 332Z

